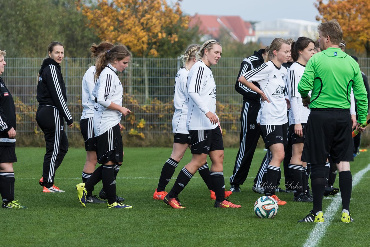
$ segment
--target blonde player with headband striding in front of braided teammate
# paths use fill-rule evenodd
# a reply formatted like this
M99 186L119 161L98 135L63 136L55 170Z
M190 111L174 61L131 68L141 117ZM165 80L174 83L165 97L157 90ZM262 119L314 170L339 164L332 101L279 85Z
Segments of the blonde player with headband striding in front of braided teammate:
M189 183L196 171L206 163L207 155L212 161L211 182L215 191L215 207L241 207L225 199L223 178L222 131L216 111L216 84L210 66L221 58L222 47L216 40L207 40L196 53L198 60L190 69L187 80L189 97L186 125L191 136L192 160L180 171L164 203L173 208L185 208L178 194Z

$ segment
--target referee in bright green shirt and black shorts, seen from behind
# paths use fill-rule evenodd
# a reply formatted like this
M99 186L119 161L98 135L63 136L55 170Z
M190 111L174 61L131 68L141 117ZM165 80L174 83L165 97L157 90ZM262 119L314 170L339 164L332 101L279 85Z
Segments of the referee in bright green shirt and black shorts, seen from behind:
M302 161L311 163L313 209L298 222L324 222L322 200L325 187L325 163L331 155L339 170L339 188L342 196L342 222L353 222L349 212L352 191L352 174L349 162L353 161L351 136L350 93L353 88L357 99L356 129L366 121L367 93L359 65L339 48L343 31L335 21L318 27L322 52L308 61L298 84L303 105L311 109ZM311 97L308 92L312 90Z

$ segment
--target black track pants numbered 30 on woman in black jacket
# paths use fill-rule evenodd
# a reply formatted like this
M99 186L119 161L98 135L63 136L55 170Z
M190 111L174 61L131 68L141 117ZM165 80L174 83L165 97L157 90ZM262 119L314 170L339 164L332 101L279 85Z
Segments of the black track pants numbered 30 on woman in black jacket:
M43 164L44 186L50 186L54 183L55 171L68 151L68 139L64 132L63 117L55 107L39 106L36 121L44 132L46 143Z

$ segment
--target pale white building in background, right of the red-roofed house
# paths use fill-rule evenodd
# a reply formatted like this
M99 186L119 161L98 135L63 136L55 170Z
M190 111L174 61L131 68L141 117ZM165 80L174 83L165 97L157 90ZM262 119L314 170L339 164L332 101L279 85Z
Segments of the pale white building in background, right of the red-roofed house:
M319 22L293 19L260 21L255 23L255 35L257 42L264 46L268 46L276 37L296 40L298 37L305 36L316 40L318 38L318 25Z

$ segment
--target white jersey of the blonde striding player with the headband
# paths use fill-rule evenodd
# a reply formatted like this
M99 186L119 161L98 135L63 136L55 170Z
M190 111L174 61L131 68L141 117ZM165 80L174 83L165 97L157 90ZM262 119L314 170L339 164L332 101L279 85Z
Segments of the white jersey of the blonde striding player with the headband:
M211 68L202 61L196 62L190 69L187 80L188 93L198 93L209 111L216 114L216 84ZM212 124L208 117L189 97L188 130L213 130L218 124Z

